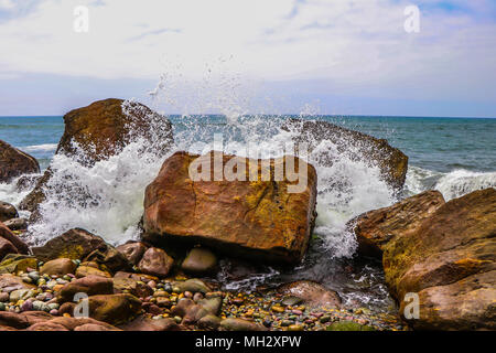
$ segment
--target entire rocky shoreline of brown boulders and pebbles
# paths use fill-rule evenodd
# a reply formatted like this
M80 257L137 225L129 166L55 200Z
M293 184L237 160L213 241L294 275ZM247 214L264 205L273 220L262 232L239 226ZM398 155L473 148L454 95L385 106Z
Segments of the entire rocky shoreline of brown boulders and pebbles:
M68 113L56 153L90 165L119 153L134 138L157 142L150 119L161 121L162 141L150 148L158 157L168 156L171 124L142 105L119 99ZM327 122L309 124L290 121L287 128L303 140L352 141L341 146L368 156L391 188L401 190L408 168L401 151ZM223 170L231 168L246 179L192 180L188 171L198 158L217 160ZM267 165L269 180L249 180L252 163L257 175ZM140 242L114 247L99 235L74 228L33 247L23 237L30 223L43 217L40 205L53 176L48 168L19 205L31 212L30 220L0 203L0 331L496 329L495 189L450 202L428 191L348 223L358 256L382 261L398 311L349 307L337 292L305 280L250 292L220 291L209 280L219 258L295 266L305 256L316 217L317 175L313 165L300 161L305 172L293 173L304 179L304 189L289 193L296 175L273 176L287 163L287 157L249 160L176 152L147 188ZM36 165L32 157L0 145L0 182L35 173ZM84 190L79 197L74 202L85 202Z

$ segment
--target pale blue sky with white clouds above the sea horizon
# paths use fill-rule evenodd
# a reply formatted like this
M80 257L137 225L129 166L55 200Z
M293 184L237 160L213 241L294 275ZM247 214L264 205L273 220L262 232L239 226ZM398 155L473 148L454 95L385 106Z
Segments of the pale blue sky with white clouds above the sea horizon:
M495 82L495 0L0 0L0 116L496 117Z

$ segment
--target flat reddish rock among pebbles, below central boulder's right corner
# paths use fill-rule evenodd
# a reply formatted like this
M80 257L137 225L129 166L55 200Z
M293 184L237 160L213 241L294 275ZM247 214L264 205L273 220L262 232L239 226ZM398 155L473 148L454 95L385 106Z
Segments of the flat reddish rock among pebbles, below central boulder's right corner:
M299 280L282 285L278 288L278 292L283 296L300 298L306 304L313 307L341 307L341 298L337 292L310 280Z

